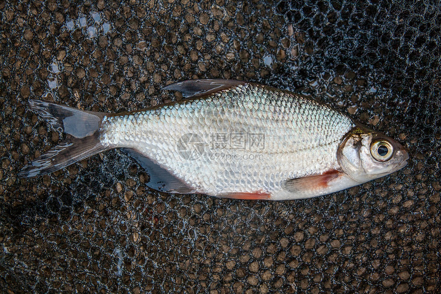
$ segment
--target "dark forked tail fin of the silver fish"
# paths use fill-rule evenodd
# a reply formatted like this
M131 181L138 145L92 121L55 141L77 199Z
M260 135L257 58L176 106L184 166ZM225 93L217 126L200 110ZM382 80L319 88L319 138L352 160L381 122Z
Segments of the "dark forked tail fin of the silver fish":
M29 100L29 107L54 129L67 135L65 140L18 172L18 177L47 174L111 148L103 146L99 140L99 128L105 113L40 100Z

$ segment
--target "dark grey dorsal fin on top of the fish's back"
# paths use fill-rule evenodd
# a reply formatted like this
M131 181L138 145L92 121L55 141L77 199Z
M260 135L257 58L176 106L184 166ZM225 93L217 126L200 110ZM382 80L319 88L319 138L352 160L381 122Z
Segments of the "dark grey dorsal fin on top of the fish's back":
M194 98L244 84L244 81L223 79L187 80L165 86L163 90L179 91L185 98Z

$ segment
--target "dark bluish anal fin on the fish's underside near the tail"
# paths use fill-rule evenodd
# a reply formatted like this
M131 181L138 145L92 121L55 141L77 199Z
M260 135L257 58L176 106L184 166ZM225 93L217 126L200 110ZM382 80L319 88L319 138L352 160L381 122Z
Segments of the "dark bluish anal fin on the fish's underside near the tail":
M121 150L135 159L147 171L150 176L150 181L146 183L148 187L168 193L189 194L195 192L187 183L176 178L168 170L159 166L138 150L130 148L121 148Z

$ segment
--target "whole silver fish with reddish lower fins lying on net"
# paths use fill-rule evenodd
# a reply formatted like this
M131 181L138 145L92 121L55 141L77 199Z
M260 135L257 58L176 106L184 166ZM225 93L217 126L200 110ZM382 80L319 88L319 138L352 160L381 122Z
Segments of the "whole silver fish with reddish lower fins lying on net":
M357 186L402 169L409 159L384 133L287 90L222 79L163 89L185 99L118 114L29 100L66 139L18 176L51 173L121 148L146 170L154 190L278 201Z

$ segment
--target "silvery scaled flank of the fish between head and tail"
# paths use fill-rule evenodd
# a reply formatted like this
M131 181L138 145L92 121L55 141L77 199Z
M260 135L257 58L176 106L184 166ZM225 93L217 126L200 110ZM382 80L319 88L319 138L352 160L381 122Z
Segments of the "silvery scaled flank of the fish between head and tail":
M207 119L215 113L216 120ZM354 126L349 117L305 97L246 84L164 106L159 114L155 109L106 117L101 143L139 150L201 193L276 192L283 180L335 169L338 144ZM206 144L195 160L176 150L189 132ZM211 135L232 133L262 134L265 146L247 150L210 144ZM216 153L225 156L213 157ZM257 160L248 159L252 156Z

